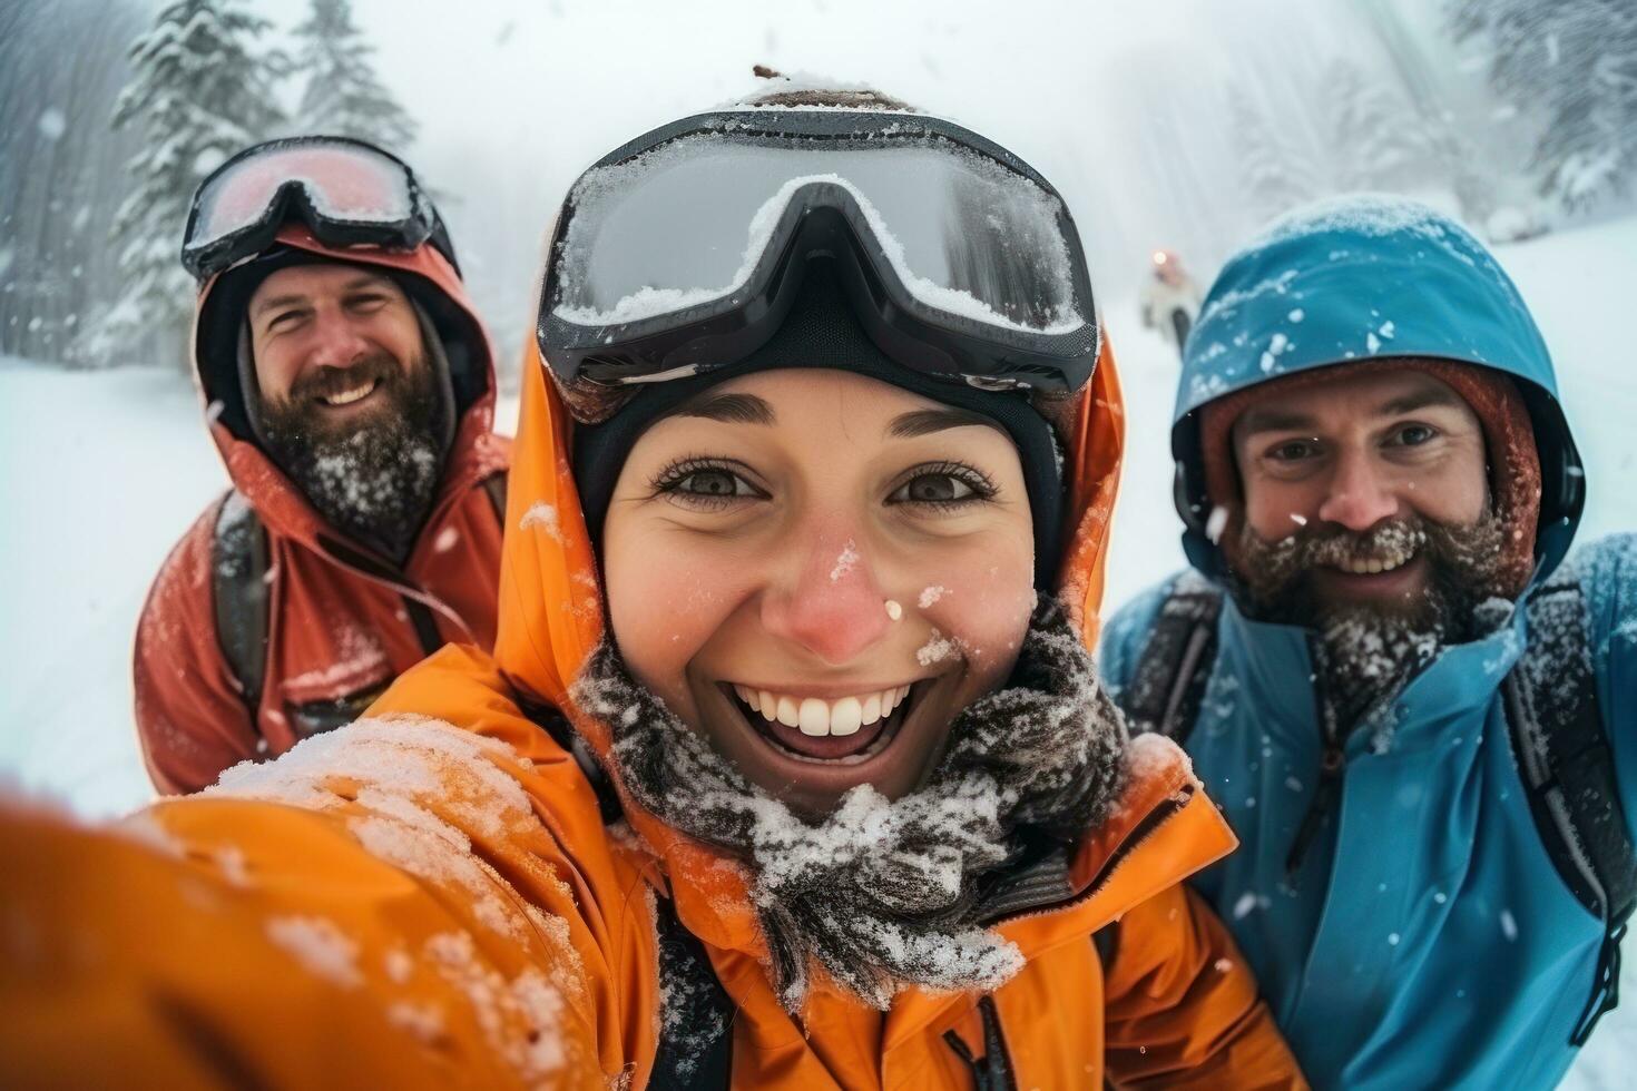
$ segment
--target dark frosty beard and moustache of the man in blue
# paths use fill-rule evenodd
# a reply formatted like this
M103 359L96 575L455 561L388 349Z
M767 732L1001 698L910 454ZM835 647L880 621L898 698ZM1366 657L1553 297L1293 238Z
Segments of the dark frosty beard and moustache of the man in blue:
M1315 667L1342 731L1398 694L1447 644L1473 640L1499 595L1506 527L1485 512L1470 527L1419 515L1378 523L1364 533L1298 530L1267 541L1249 527L1239 533L1234 574L1251 617L1316 630ZM1414 553L1427 561L1427 586L1405 602L1331 604L1318 597L1313 571L1349 559Z

